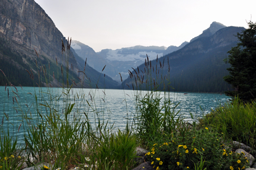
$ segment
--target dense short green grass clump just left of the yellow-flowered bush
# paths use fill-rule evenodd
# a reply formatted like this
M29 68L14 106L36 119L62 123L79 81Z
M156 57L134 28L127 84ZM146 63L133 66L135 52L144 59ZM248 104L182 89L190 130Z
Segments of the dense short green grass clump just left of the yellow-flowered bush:
M99 141L94 158L99 169L133 168L136 156L136 137L129 130L104 135Z

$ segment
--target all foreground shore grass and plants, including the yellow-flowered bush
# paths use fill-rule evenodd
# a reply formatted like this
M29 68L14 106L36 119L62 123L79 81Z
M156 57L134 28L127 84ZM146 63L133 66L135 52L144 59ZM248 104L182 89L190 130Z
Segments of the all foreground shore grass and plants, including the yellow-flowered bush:
M68 56L68 50L63 50L63 59L68 61ZM68 65L67 62L65 68ZM255 102L243 105L234 100L190 126L177 110L179 103L172 102L168 92L161 97L158 91L159 82L166 86L167 78L151 76L149 66L151 69L148 60L145 78L130 72L135 80L136 113L126 110L125 130L115 129L114 122L108 118L110 111L105 109L105 95L101 104L96 104L98 89L91 89L89 94L84 94L82 89L73 91L68 69L61 73L62 88L57 92L52 88L46 91L34 88L28 94L27 103L35 102L25 108L20 91L9 83L7 91L11 95L6 91L7 107L0 127L1 169L20 169L23 162L28 166L47 162L50 167L45 168L52 169L133 169L137 165L137 146L149 150L145 161L150 161L155 169L244 169L247 159L226 146L233 139L254 148ZM44 68L40 74L44 79L52 78L45 66L40 68ZM141 85L148 85L150 91L139 91ZM124 104L127 108L126 101ZM14 120L9 120L8 110L12 110ZM19 126L12 124L14 121ZM24 145L17 144L20 130Z

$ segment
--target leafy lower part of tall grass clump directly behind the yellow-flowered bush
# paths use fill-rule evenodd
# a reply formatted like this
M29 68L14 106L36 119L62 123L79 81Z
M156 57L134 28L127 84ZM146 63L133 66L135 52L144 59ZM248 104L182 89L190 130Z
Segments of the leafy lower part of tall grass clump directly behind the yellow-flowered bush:
M161 140L163 131L173 131L184 125L183 118L178 114L179 111L175 113L178 104L174 105L166 95L165 98L161 98L158 92L151 91L137 96L134 128L143 146L150 147Z

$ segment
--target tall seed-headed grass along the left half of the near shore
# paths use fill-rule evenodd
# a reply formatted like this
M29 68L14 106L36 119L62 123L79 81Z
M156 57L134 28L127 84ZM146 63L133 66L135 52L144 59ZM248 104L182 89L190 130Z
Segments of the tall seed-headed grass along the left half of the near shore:
M50 73L50 64L49 67L42 65L37 53L38 79L44 82L37 84L39 87L34 88L34 92L29 92L28 102L35 102L27 103L24 108L23 102L17 97L18 91L13 92L13 108L14 111L19 111L17 113L21 118L24 145L18 147L17 135L20 127L11 124L12 120L6 114L7 121L3 118L2 124L7 124L8 131L5 133L4 126L1 126L0 135L1 168L19 168L22 162L26 162L28 166L48 162L49 168L55 169L86 168L85 166L92 169L127 169L135 165L137 140L130 130L129 121L127 120L126 130L114 130L114 123L107 116L111 113L105 110L105 97L100 105L95 102L98 89L91 89L89 98L82 89L73 93L76 83L72 81L69 71L70 43L71 41L65 46L62 41L64 62L60 62L63 63L60 66L61 73L57 72L57 76L62 75L62 83L57 92L50 87L55 78ZM33 72L28 73L34 81L36 77ZM81 87L86 79L84 74ZM9 87L15 88L11 83ZM9 129L12 129L11 135ZM13 156L17 161L13 161Z

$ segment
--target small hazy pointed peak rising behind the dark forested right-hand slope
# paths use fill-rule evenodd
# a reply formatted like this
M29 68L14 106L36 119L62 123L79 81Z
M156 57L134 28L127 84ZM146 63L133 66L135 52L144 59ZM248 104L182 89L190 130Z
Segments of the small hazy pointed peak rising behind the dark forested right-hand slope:
M206 30L203 31L203 33L201 33L199 36L194 37L193 39L190 40L190 43L196 39L199 39L201 37L210 37L213 34L215 34L218 30L220 30L221 28L225 28L226 26L221 24L221 23L217 23L216 21L213 22L212 24L210 24L210 27L207 28Z

